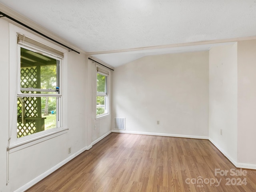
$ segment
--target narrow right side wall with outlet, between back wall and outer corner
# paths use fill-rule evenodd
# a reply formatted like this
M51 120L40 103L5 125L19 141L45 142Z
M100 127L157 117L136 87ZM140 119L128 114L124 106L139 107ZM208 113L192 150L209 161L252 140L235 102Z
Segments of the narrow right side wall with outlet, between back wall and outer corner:
M209 138L236 164L238 134L236 43L210 49L209 79Z

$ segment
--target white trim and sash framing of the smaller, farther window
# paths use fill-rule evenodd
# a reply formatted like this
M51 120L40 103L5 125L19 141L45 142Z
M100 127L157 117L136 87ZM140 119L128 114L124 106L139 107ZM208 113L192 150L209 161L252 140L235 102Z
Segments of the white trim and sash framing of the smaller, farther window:
M100 72L97 71L97 68L100 69ZM104 74L104 71L106 71L106 74ZM107 86L107 90L106 90L106 94L97 94L97 74L101 74L101 75L104 75L107 77L107 82L106 82L106 86ZM95 119L101 119L101 118L105 118L107 116L110 115L110 108L109 108L109 91L110 91L110 70L108 68L105 68L105 67L102 67L101 65L98 65L96 64L96 97L97 96L107 96L107 104L106 104L106 109L107 109L107 112L106 113L103 113L103 114L100 114L100 115L97 115L96 114L96 118ZM96 109L97 111L97 109Z

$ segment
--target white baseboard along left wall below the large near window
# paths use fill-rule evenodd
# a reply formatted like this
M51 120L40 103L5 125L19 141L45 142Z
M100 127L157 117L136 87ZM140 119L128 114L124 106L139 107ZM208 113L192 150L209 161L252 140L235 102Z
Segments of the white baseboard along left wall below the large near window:
M25 190L27 190L28 188L32 187L34 184L38 183L40 180L42 180L43 178L45 178L46 176L50 175L51 173L53 173L54 171L56 171L58 168L60 168L61 166L63 166L64 164L66 164L67 162L69 162L70 160L72 160L73 158L75 158L76 156L78 156L79 154L81 154L82 152L89 150L90 148L92 148L92 145L86 146L84 148L82 148L81 150L79 150L78 152L72 154L71 156L69 156L68 158L66 158L65 160L63 160L62 162L58 163L56 166L50 168L49 170L47 170L46 172L44 172L43 174L41 174L40 176L34 178L33 180L31 180L30 182L26 183L24 186L18 188L17 190L15 190L14 192L23 192Z

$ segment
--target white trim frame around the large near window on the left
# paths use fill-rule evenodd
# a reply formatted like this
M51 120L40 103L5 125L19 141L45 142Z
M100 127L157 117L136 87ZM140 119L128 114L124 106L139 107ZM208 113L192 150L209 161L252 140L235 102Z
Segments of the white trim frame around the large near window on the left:
M23 30L19 28L18 26L15 26L13 24L9 24L9 38L10 38L10 46L9 46L9 144L8 149L9 152L15 152L17 150L21 150L23 148L32 146L34 144L43 142L45 140L54 138L56 136L59 136L61 134L65 134L68 131L67 128L67 120L65 117L67 117L67 104L63 102L65 100L66 90L62 89L62 101L61 101L61 120L62 125L60 128L54 128L50 130L45 130L42 132L38 132L35 134L31 134L25 137L17 138L17 95L20 93L18 84L20 83L18 79L19 74L19 57L18 57L18 44L17 44L17 33L22 33L25 36L28 36L34 40L37 40L38 42L42 42L43 44L46 44L47 46L50 46L56 50L59 50L60 52L64 53L64 59L62 60L62 67L60 72L60 82L62 82L62 86L64 87L66 85L66 78L62 78L62 76L67 74L67 54L68 50L61 48L55 44L52 44L48 40L44 40L40 38L39 36L36 36L26 30ZM64 81L63 81L64 80ZM18 83L18 84L17 84Z

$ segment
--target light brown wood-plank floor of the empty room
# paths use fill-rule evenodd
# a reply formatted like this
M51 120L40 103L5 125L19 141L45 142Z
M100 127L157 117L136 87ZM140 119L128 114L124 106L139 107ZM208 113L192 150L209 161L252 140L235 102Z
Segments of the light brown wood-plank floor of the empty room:
M255 192L242 171L208 140L111 133L27 192Z

